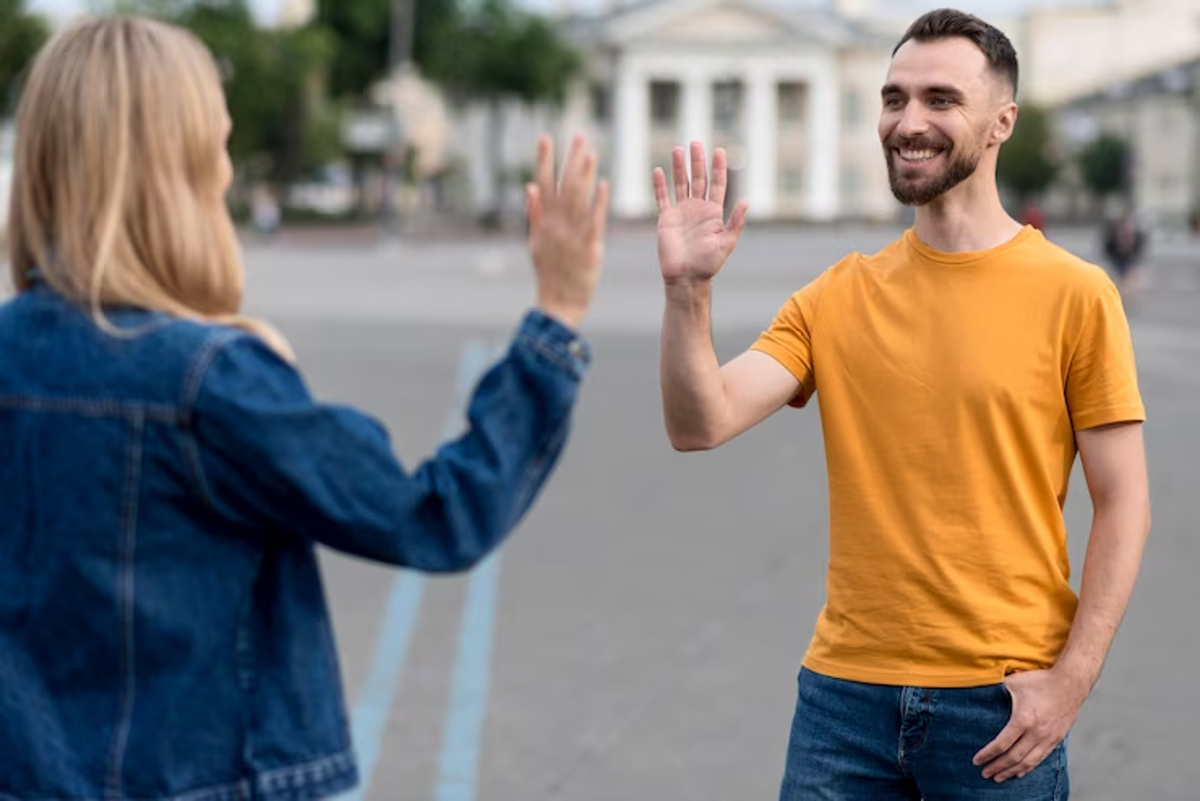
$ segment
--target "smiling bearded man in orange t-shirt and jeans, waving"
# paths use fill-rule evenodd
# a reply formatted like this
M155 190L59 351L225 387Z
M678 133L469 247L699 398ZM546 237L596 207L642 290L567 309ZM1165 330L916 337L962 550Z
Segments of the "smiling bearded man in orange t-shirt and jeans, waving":
M712 279L725 153L654 173L661 384L678 450L821 398L828 597L799 676L780 797L1066 799L1066 736L1100 673L1150 529L1142 403L1120 295L1001 206L1016 54L956 11L893 54L880 139L913 228L796 293L720 366ZM1079 597L1062 504L1094 507Z

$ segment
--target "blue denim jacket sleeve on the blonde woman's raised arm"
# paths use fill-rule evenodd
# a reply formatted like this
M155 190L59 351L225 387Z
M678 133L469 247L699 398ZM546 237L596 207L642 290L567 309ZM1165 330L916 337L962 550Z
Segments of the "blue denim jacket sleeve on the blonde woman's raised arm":
M198 383L192 472L234 523L391 565L467 570L550 476L588 362L586 342L530 312L475 387L462 436L407 471L380 423L317 403L290 365L239 336Z

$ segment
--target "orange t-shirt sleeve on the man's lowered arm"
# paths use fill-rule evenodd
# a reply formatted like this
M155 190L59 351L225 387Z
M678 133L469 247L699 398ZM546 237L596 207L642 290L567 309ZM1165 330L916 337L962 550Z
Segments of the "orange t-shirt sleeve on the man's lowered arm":
M1084 318L1067 373L1067 408L1075 430L1146 420L1129 324L1111 283Z

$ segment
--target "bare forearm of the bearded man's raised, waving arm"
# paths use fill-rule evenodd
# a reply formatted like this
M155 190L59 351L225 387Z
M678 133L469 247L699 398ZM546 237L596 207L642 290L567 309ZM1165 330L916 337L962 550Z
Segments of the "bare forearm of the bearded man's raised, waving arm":
M713 349L709 282L668 282L659 378L671 444L683 451L718 445L728 415Z

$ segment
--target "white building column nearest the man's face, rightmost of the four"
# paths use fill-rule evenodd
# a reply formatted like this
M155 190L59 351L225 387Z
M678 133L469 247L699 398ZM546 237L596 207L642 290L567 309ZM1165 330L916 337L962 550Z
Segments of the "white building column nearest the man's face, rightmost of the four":
M826 59L809 79L808 212L812 219L833 219L841 211L841 92L833 59Z

